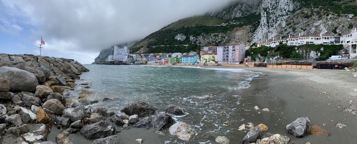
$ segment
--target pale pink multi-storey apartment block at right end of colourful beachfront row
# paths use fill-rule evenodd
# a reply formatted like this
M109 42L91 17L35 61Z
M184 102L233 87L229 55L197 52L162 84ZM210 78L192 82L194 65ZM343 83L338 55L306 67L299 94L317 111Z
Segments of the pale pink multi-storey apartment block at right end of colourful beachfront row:
M217 47L218 64L239 64L245 57L245 45L236 43Z

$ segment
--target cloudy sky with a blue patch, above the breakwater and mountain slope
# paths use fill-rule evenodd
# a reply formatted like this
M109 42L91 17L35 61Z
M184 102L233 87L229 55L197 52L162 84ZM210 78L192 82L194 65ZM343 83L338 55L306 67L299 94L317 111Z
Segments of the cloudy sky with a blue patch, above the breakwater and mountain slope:
M140 40L182 18L235 0L0 0L0 53L94 62L101 49Z

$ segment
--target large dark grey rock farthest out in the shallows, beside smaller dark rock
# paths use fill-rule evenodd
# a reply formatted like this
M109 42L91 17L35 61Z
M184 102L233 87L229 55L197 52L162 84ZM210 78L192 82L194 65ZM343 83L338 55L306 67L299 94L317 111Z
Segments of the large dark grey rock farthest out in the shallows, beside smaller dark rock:
M143 101L132 101L122 110L126 114L138 114L138 117L147 117L155 113L156 108Z

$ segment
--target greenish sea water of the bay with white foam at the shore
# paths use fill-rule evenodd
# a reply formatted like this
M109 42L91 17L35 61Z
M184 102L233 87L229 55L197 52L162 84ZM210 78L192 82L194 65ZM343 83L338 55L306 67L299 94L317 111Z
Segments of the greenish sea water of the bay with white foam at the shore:
M132 100L146 101L159 111L164 111L170 104L180 106L185 109L185 116L173 118L194 127L196 135L192 141L195 142L230 135L245 123L239 113L249 113L248 103L242 104L242 100L249 96L244 95L243 90L249 89L252 78L260 74L238 68L202 66L85 67L90 72L83 73L77 81L79 86L71 94L73 99L84 90L80 83L86 82L90 84L90 89L86 90L94 93L88 99L99 101L93 107L104 106L119 112ZM103 98L113 101L103 102Z

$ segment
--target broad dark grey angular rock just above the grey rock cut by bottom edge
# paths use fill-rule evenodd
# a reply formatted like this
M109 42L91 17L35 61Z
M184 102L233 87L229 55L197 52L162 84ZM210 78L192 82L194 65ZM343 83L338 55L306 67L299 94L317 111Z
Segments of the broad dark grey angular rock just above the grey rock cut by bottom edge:
M87 139L97 139L116 134L116 129L112 122L100 121L84 126L80 133Z

